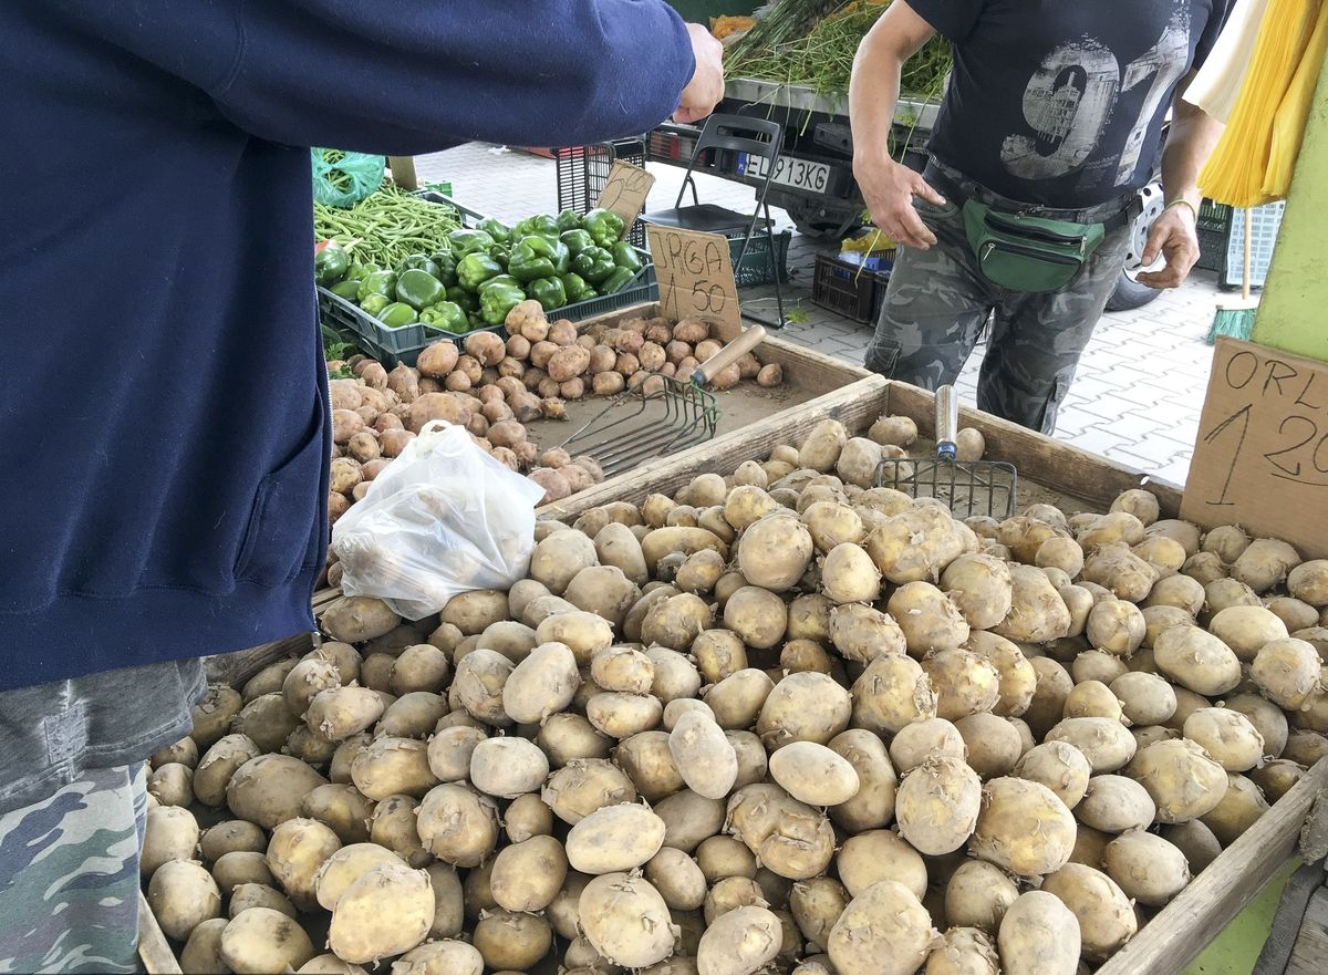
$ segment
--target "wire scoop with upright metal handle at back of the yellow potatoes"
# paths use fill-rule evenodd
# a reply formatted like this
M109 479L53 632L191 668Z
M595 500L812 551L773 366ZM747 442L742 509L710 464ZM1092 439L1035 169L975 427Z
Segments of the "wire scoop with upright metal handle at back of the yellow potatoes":
M989 515L1005 519L1019 503L1019 472L1004 461L960 461L959 397L954 387L936 391L936 457L884 460L876 468L876 486L894 488L914 498L936 498L956 518Z

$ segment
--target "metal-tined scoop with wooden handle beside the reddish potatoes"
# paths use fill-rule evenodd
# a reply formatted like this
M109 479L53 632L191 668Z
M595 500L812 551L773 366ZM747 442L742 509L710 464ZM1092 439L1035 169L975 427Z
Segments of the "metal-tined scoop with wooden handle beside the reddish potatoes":
M592 420L563 441L562 448L590 454L608 474L620 474L645 461L714 437L720 408L705 387L721 371L765 340L765 328L752 325L697 365L687 379L652 373L647 383L619 393ZM645 387L652 389L647 391Z

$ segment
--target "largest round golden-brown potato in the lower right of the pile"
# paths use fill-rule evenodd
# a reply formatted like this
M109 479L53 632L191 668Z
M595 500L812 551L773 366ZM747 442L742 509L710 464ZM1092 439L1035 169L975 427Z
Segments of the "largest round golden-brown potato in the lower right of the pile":
M968 849L1017 875L1054 873L1074 849L1074 817L1040 782L993 778L983 786L981 812Z

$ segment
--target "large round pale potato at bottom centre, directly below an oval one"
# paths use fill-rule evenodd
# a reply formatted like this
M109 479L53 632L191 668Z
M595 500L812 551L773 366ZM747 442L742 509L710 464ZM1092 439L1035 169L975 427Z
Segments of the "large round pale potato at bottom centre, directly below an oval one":
M595 877L582 891L578 911L586 940L611 964L643 968L673 952L677 929L668 905L641 877Z

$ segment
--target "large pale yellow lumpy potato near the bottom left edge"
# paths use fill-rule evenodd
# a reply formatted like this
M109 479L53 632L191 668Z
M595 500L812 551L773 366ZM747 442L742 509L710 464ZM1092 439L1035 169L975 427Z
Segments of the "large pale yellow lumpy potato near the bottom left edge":
M384 863L364 873L337 899L328 944L337 958L363 964L409 951L428 936L432 925L429 874Z

